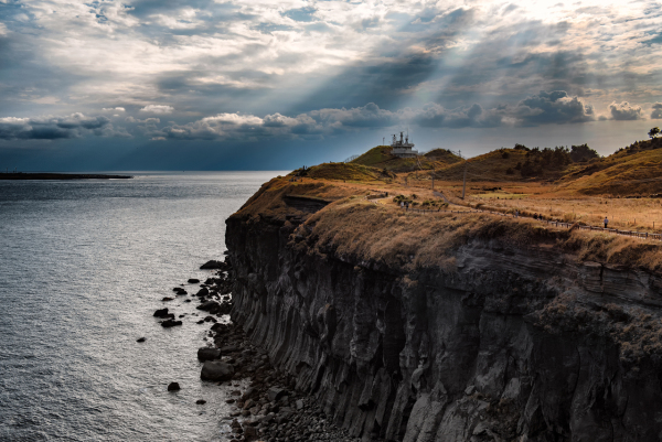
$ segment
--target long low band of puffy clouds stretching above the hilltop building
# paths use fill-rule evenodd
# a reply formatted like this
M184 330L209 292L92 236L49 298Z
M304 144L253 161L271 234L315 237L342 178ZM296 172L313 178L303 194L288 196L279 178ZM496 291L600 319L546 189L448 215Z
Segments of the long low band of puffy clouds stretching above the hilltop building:
M129 117L131 118L131 117ZM154 130L152 137L186 140L244 140L269 137L322 137L366 128L391 128L416 125L421 128L493 128L531 127L594 121L592 106L564 90L541 91L515 105L483 108L479 104L447 109L439 104L395 111L374 103L353 108L323 108L293 117L279 112L258 117L247 114L218 114L185 125L169 123ZM128 121L128 119L127 119ZM139 121L135 120L132 121ZM153 128L154 125L151 125Z

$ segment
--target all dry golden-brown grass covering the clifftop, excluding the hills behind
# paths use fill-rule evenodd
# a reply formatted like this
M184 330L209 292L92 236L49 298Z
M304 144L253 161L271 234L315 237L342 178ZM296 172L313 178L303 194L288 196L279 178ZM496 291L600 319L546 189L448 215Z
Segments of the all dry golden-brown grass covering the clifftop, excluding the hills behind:
M453 250L472 239L499 239L512 247L526 248L540 244L554 245L580 260L638 266L658 271L662 268L662 244L629 237L616 236L600 231L567 230L527 218L504 218L490 214L417 214L405 213L396 208L393 197L398 194L424 202L441 200L433 196L429 188L405 187L392 183L353 184L305 179L291 183L288 177L274 179L263 187L235 215L241 217L274 217L285 219L286 215L298 212L284 201L285 195L302 195L334 201L323 211L314 214L307 222L314 226L314 235L321 244L337 247L341 254L352 254L360 259L374 259L388 265L407 265L415 267L438 266L449 268ZM479 186L473 186L479 188ZM523 187L517 187L522 190ZM543 186L532 188L540 191ZM446 188L452 194L457 188ZM513 191L513 188L510 188ZM367 194L388 192L389 196L375 205L364 200ZM480 192L480 191L473 191ZM575 200L542 198L544 194L533 194L524 200L500 201L500 208L520 212L545 213L547 204L560 213ZM484 198L469 202L479 204ZM591 204L604 207L597 198L577 201L576 217L589 212ZM579 204L581 202L581 204ZM656 201L655 201L656 202ZM653 204L655 202L652 202ZM492 204L493 201L488 200ZM636 205L651 204L644 200L609 200L607 206L622 204L623 213ZM632 204L634 206L628 206ZM549 207L549 206L547 206ZM659 205L656 206L659 207ZM651 206L651 214L659 211ZM458 208L450 206L449 208ZM488 207L489 208L489 207ZM553 212L554 213L554 212ZM620 213L620 212L616 212ZM303 214L301 214L303 215ZM598 216L598 215L596 215ZM600 215L601 216L601 215ZM611 215L610 215L611 216ZM579 218L585 219L585 218ZM612 218L610 218L612 219ZM618 219L618 218L617 218ZM601 217L596 220L601 220ZM618 224L612 220L610 226ZM598 224L598 223L596 223ZM450 261L449 261L450 260Z

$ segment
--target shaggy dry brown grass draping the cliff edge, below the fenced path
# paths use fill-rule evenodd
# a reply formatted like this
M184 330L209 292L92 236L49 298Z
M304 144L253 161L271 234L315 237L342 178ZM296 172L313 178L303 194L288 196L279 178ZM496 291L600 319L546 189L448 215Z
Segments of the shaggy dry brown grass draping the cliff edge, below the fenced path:
M521 249L554 245L581 260L662 269L662 245L654 242L489 214L406 213L359 197L339 201L306 224L313 227L320 252L331 248L387 266L448 270L460 246L495 239Z

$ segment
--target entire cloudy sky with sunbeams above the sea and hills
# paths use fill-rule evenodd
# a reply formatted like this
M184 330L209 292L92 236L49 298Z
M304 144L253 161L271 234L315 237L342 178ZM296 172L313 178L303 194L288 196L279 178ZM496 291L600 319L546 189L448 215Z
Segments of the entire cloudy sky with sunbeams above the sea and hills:
M0 0L0 169L285 170L662 126L662 2Z

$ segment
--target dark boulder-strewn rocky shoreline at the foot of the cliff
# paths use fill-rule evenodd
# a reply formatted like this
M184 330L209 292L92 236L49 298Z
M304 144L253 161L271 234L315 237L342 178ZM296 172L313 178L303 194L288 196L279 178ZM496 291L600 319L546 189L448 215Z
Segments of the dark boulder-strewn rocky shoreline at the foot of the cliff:
M185 293L177 287L173 291L174 297L191 297L185 302L196 298L196 310L201 311L197 323L211 324L205 333L206 346L197 349L197 360L202 363L203 381L216 382L229 391L226 403L232 406L231 412L221 418L232 431L225 435L226 440L362 441L350 438L346 430L333 424L312 395L297 390L296 377L276 369L268 352L253 345L243 327L227 317L233 306L234 274L231 263L212 260L203 265L201 270L212 270L212 273L203 283L196 282L200 285L196 293ZM170 300L174 298L163 298L162 302ZM202 317L204 313L207 315ZM157 310L154 316L164 320L161 322L163 327L182 325L168 309ZM242 385L247 385L247 388L242 389ZM204 406L206 402L201 399L197 403Z

